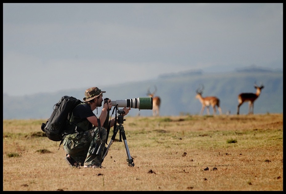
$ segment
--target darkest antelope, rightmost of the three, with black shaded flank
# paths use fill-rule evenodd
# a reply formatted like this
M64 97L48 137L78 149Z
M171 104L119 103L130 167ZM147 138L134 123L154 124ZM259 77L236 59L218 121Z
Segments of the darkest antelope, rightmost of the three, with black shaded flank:
M254 82L254 88L256 88L256 94L254 93L241 93L238 95L238 106L237 106L237 114L239 114L239 107L244 103L244 102L249 102L248 105L248 114L253 114L253 103L254 101L259 97L261 93L261 89L264 88L263 84L260 83L260 86L257 86L256 83Z

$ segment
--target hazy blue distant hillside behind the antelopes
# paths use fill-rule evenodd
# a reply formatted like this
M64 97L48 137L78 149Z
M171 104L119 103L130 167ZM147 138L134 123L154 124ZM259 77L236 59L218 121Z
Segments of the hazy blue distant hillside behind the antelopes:
M237 96L240 93L255 93L254 83L263 83L260 97L254 103L254 114L283 113L283 71L264 71L262 69L240 69L228 73L203 73L201 71L182 72L159 76L158 79L142 82L98 86L107 91L104 98L124 100L147 97L154 85L161 98L161 116L180 114L199 114L201 104L195 99L195 91L204 85L203 97L216 96L220 99L223 114L230 111L236 114ZM47 119L53 111L53 105L62 96L68 95L83 99L86 88L59 91L56 93L39 93L30 96L10 97L3 93L3 119ZM210 112L212 114L212 108ZM247 114L248 103L240 107L240 114ZM97 115L97 111L94 113ZM98 109L98 114L101 108ZM132 109L129 116L151 116L152 110ZM204 111L206 114L206 110Z

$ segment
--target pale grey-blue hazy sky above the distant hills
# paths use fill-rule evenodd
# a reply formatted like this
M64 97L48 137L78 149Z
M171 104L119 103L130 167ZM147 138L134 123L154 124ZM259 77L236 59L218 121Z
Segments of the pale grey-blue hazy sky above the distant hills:
M283 69L283 3L3 3L3 93Z

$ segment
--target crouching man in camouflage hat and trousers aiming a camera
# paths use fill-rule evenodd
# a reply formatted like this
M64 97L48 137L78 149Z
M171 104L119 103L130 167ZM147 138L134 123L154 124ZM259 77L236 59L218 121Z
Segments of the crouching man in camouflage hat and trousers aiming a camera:
M77 105L72 112L70 122L75 123L73 126L76 126L76 133L66 135L63 140L63 149L67 153L65 160L71 167L102 168L107 131L103 127L99 129L98 119L100 124L108 119L107 110L112 107L111 100L109 99L107 103L103 104L99 118L95 116L93 110L102 106L103 93L105 91L101 91L97 87L87 89L85 98L83 98L84 102ZM123 116L127 115L130 109L130 107L123 108ZM114 124L115 118L111 119L110 126L114 126ZM98 150L97 153L96 150Z

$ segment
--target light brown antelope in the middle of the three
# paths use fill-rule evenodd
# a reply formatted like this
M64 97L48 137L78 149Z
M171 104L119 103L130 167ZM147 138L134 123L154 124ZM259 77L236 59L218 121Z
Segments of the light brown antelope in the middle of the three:
M221 108L220 108L220 99L218 99L215 96L202 97L203 89L204 87L202 85L201 89L198 88L196 90L197 95L195 96L202 103L202 109L201 109L200 115L203 115L203 110L205 109L205 107L207 107L207 114L210 115L210 109L209 109L210 105L214 109L213 115L216 114L216 106L218 107L220 114L222 114Z

